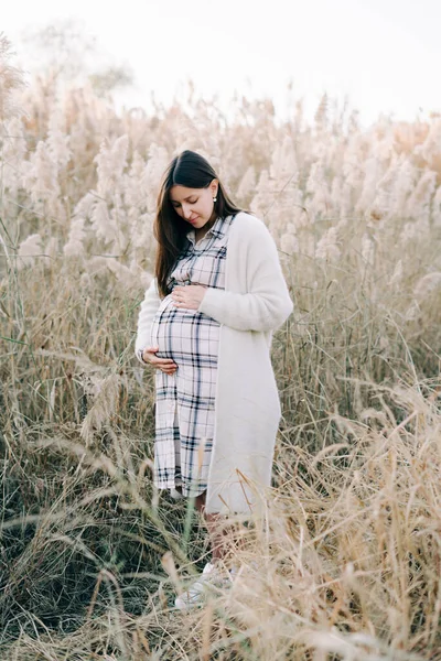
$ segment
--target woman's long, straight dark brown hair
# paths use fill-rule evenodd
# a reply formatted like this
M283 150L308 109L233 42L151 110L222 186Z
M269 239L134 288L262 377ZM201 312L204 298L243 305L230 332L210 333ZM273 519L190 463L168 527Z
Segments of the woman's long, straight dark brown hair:
M186 243L189 231L189 224L176 214L170 201L170 189L175 185L187 188L207 188L214 178L219 182L217 199L214 204L217 216L226 218L240 212L241 209L236 207L228 197L208 161L196 152L183 151L172 160L164 172L158 195L153 228L154 238L159 243L154 274L162 297L169 293L166 282L178 257Z

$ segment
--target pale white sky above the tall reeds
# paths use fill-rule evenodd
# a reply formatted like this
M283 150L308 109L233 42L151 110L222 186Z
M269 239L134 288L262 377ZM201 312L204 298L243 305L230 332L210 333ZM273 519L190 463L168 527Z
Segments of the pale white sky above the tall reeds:
M148 107L151 91L170 104L191 78L220 105L267 96L280 113L291 82L306 116L326 91L364 126L441 111L440 0L20 0L0 9L0 31L32 68L23 33L67 19L97 37L103 61L133 72L119 107Z

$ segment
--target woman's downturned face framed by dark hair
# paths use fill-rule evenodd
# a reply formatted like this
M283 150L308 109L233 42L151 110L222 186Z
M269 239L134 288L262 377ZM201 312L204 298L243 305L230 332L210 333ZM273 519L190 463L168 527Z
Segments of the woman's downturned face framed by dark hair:
M213 180L207 188L187 188L176 184L170 188L170 202L181 218L201 229L216 217L213 197L217 195L217 180Z

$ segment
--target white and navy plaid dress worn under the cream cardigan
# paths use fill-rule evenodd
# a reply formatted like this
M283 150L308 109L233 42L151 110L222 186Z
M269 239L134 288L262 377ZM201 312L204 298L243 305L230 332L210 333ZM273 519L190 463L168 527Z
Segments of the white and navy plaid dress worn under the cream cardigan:
M187 247L169 278L170 292L185 284L225 289L233 220L217 218L197 243L194 229L189 231ZM159 358L178 365L174 375L155 373L154 485L181 486L184 496L196 496L207 488L213 447L219 324L196 310L175 307L169 294L153 319L151 343Z

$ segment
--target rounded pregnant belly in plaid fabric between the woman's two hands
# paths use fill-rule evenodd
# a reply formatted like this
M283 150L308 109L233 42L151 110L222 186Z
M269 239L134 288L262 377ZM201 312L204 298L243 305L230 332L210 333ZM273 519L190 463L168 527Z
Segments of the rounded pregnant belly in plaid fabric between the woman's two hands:
M159 347L158 358L197 368L217 364L219 328L217 322L196 310L170 304L157 313L151 339Z

